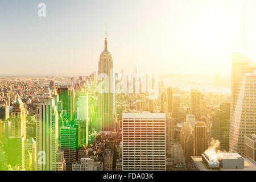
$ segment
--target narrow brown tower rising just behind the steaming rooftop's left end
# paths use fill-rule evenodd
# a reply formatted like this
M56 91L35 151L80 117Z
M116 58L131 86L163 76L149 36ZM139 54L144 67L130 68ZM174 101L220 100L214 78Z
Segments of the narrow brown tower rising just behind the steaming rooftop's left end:
M205 122L196 122L194 129L194 156L201 156L207 148L207 126Z

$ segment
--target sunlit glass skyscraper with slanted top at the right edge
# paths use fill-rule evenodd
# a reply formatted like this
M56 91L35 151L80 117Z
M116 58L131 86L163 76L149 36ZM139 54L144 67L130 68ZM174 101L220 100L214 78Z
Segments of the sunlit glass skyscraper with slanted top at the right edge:
M255 113L253 107L255 81L246 74L253 73L254 70L256 64L253 61L238 53L232 53L229 150L240 155L243 155L244 135L255 132L255 126L251 125L255 123L255 117L250 115Z

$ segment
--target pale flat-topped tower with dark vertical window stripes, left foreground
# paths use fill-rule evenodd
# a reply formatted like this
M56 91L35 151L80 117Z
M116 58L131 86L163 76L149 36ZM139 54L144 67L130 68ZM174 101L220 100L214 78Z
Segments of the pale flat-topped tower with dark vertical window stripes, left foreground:
M39 171L54 171L58 150L58 113L55 100L52 97L44 97L37 107L36 114L37 168Z

